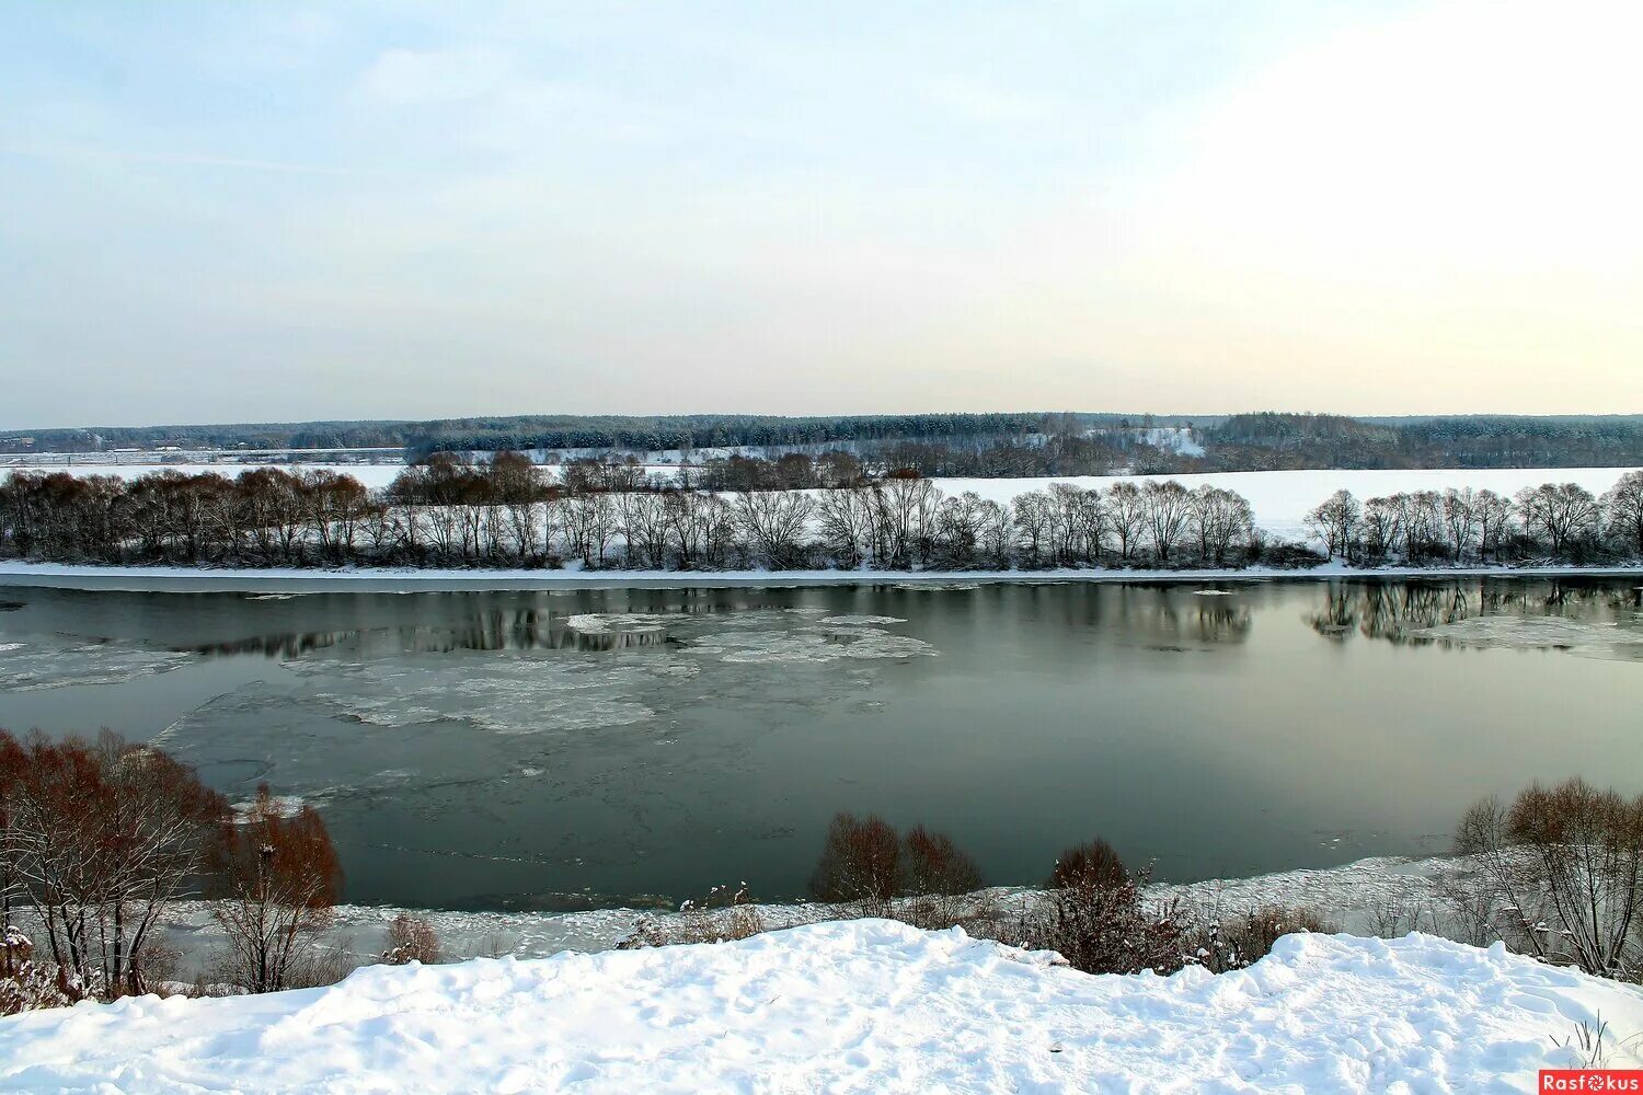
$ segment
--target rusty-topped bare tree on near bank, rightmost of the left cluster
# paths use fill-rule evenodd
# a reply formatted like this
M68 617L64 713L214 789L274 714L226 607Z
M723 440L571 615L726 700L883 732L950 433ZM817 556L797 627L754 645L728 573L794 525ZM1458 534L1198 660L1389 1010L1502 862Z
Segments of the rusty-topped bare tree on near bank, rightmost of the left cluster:
M223 975L246 992L312 980L314 937L330 926L342 865L312 806L286 811L268 785L212 849L212 916L228 939Z

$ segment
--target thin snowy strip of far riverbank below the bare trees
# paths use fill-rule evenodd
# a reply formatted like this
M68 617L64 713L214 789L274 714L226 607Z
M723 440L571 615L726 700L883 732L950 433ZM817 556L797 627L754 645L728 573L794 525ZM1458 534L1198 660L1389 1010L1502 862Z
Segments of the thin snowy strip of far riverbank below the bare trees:
M715 589L800 586L918 586L1052 583L1259 583L1406 578L1643 578L1623 566L1245 566L1240 570L458 570L421 566L89 566L0 560L0 586L120 593L444 593L488 589Z

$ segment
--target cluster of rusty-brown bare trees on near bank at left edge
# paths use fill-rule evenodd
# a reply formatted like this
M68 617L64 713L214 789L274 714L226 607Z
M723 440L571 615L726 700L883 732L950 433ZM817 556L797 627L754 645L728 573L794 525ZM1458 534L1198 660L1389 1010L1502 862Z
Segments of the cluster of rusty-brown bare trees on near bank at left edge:
M286 988L309 978L340 891L324 821L266 786L237 813L187 765L108 731L0 731L0 931L15 942L0 998L23 985L64 1001L154 990L171 965L161 928L192 896L214 898L225 937L214 980Z

